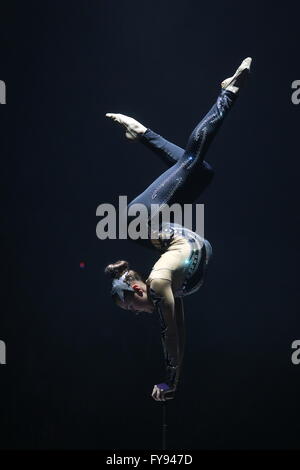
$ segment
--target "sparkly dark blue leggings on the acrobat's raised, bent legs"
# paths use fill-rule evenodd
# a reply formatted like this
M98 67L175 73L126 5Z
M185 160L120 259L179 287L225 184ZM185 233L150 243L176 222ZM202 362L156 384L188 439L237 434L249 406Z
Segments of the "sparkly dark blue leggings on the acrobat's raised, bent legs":
M133 199L127 209L133 204L144 204L150 214L151 204L158 204L159 212L165 204L188 204L197 199L213 177L213 170L204 161L204 155L236 97L229 90L221 91L215 104L191 133L185 150L151 129L146 130L139 140L160 155L170 168ZM153 214L154 211L151 216Z

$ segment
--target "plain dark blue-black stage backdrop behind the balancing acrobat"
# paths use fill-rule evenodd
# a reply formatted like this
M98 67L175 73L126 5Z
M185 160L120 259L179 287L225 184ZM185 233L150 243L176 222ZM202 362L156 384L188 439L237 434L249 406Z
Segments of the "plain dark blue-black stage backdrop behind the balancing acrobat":
M4 1L0 6L2 449L159 449L158 319L118 309L104 267L159 252L96 237L96 208L166 169L106 112L184 147L241 60L252 73L206 159L214 249L185 299L173 449L299 448L299 6ZM85 263L81 268L80 263Z

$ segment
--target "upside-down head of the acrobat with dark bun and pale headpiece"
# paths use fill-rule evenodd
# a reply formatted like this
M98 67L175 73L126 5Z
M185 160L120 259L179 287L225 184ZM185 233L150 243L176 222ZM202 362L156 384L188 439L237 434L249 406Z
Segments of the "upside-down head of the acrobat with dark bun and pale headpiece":
M130 269L127 261L119 260L109 264L104 272L113 280L112 298L119 307L133 312L151 313L154 311L154 305L148 297L147 286L142 276ZM115 282L117 280L121 282Z

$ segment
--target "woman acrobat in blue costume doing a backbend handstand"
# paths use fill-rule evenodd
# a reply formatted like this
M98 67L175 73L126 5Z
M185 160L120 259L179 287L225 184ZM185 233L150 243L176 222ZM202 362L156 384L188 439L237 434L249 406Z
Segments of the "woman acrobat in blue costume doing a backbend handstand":
M169 169L131 201L128 208L140 203L150 213L151 204L158 204L160 211L166 204L194 202L202 193L213 176L204 155L237 98L249 74L251 61L251 57L243 60L235 74L222 82L216 103L191 133L185 150L131 117L106 114L126 128L128 139L142 142L169 165ZM212 248L199 234L176 223L163 221L158 235L152 239L150 234L148 243L162 254L146 280L130 269L127 261L109 264L105 272L113 278L111 295L118 306L159 316L166 378L163 383L154 385L152 397L165 401L174 398L182 370L183 297L195 293L203 284Z

